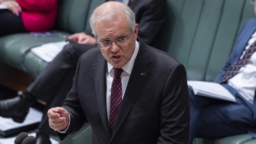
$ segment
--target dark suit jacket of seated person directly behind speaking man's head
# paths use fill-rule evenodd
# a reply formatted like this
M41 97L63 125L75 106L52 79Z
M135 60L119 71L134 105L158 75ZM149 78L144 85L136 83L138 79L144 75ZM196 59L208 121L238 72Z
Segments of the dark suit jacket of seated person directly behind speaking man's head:
M104 2L104 0L102 1ZM148 45L154 44L154 40L166 20L166 5L166 0L130 0L128 3L128 6L134 11L136 23L139 24L140 40ZM91 30L85 33L93 36Z

